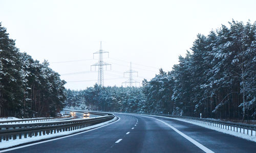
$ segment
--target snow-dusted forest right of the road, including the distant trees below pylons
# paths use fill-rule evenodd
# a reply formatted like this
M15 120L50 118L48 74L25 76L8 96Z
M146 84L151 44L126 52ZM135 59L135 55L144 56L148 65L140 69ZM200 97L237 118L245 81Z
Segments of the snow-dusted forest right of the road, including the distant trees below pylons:
M198 34L172 70L160 69L140 88L95 84L65 93L70 108L255 119L256 23L232 20L208 35Z

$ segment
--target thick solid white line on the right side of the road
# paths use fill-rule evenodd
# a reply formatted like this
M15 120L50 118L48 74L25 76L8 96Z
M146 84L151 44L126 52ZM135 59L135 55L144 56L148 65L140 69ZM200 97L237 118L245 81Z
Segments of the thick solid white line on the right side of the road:
M202 145L201 143L197 142L196 140L188 137L187 135L183 134L182 132L180 132L180 130L178 130L177 128L173 127L172 125L164 122L164 121L161 121L159 119L156 119L156 118L153 118L153 117L148 117L148 118L152 118L152 119L155 119L155 120L158 120L162 123L164 123L165 125L169 126L170 128L172 128L173 130L175 130L175 132L177 132L179 135L181 135L182 137L184 137L185 139L187 139L188 141L190 141L191 143L195 144L197 147L199 147L200 149L202 149L204 152L211 152L211 153L214 153L214 151L211 151L210 149L208 149L207 147L205 147L204 145Z

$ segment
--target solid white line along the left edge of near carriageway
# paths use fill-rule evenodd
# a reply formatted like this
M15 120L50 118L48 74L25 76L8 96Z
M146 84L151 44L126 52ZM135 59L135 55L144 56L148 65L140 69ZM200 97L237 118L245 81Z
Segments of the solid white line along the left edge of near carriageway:
M102 126L99 126L99 127L93 128L93 129L89 129L89 130L86 130L84 132L80 132L80 133L77 133L77 134L73 134L73 135L69 135L69 136L64 136L64 137L60 137L60 138L55 138L55 139L51 139L51 140L46 140L46 141L41 141L41 142L36 142L36 143L31 143L31 144L27 144L27 145L23 145L23 146L18 146L18 147L14 147L14 148L9 148L9 149L5 149L5 150L0 150L0 152L15 150L15 149L24 148L24 147L28 147L28 146L32 146L32 145L36 145L36 144L40 144L40 143L45 143L45 142L50 142L50 141L54 141L54 140L58 140L58 139L68 138L68 137L71 137L71 136L80 135L80 134L83 134L83 133L90 132L91 130L95 130L95 129L98 129L98 128L101 128L101 127L104 127L104 126L108 126L110 124L113 124L113 123L119 121L120 119L121 118L118 117L118 120L116 120L116 121L114 121L112 123L108 123L106 125L102 125Z

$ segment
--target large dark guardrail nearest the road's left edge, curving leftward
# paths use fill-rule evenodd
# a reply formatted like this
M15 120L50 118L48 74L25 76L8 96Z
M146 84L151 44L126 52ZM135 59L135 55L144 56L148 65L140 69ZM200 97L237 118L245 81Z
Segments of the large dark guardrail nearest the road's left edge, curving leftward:
M15 140L33 136L49 135L59 132L72 131L98 123L109 121L115 117L111 113L93 113L93 115L104 115L88 119L75 119L69 121L55 121L55 122L37 122L37 123L23 123L23 124L4 124L0 125L0 142L3 140Z

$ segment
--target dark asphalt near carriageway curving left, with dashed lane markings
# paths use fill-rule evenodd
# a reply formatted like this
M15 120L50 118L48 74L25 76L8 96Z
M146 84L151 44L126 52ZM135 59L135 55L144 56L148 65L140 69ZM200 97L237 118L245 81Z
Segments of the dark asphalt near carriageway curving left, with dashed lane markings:
M255 152L256 143L173 119L116 114L110 125L9 152Z

